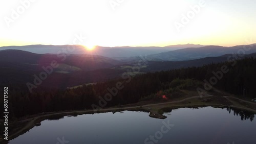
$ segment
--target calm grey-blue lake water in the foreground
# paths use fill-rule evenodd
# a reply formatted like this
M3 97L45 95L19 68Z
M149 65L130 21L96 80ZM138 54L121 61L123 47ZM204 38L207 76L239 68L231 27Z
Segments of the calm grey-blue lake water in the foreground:
M256 144L254 114L204 107L180 108L156 119L145 112L124 111L65 116L11 140L11 144ZM242 121L243 120L243 121Z

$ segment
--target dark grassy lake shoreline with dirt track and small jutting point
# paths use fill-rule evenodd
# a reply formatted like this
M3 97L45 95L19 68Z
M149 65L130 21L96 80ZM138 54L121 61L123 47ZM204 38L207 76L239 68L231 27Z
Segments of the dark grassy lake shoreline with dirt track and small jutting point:
M148 112L150 117L153 118L160 118L164 119L166 118L165 115L163 115L164 112L168 112L174 109L179 109L179 108L201 108L201 107L215 107L215 108L234 108L234 109L239 109L239 110L245 110L251 113L256 114L256 109L251 109L249 107L245 107L242 105L237 104L236 102L233 102L231 99L236 99L237 101L243 101L246 104L253 104L255 105L256 108L256 103L250 103L249 101L241 100L238 98L234 97L229 97L229 96L213 96L213 95L208 95L207 97L204 97L203 99L208 98L208 99L226 99L229 101L232 105L223 104L223 103L198 103L199 101L202 101L202 98L199 99L199 96L194 96L190 98L186 98L183 100L178 100L178 101L173 101L173 102L165 102L165 103L155 103L155 104L146 104L143 106L127 106L127 107L112 107L112 108L105 108L105 109L100 109L100 110L75 110L75 111L62 111L62 112L50 112L42 115L36 115L27 119L22 119L18 121L18 123L28 121L24 127L16 131L15 133L12 133L10 136L8 136L8 140L5 139L0 139L1 142L3 143L8 143L8 141L18 137L19 135L22 135L29 131L30 129L34 128L36 125L40 124L42 121L45 121L46 119L59 119L62 118L63 116L77 116L77 115L83 115L83 114L94 114L94 113L105 113L105 112L120 112L120 111L143 111L143 112ZM188 101L188 102L187 102ZM195 101L195 103L189 102L189 101ZM152 107L152 108L150 108ZM149 109L150 108L150 109ZM13 123L13 122L12 122Z

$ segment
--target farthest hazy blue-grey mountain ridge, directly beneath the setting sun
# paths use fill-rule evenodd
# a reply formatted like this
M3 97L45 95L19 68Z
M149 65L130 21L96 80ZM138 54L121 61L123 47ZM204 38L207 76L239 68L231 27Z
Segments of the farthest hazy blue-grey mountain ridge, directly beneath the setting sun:
M36 54L58 54L58 53L69 53L69 54L88 54L88 55L100 55L110 58L128 58L140 55L152 55L162 52L174 51L184 49L186 47L193 47L191 44L181 45L169 45L166 47L160 46L96 46L93 51L88 51L83 45L25 45L25 46L2 46L1 50L22 50ZM195 47L204 45L194 45Z

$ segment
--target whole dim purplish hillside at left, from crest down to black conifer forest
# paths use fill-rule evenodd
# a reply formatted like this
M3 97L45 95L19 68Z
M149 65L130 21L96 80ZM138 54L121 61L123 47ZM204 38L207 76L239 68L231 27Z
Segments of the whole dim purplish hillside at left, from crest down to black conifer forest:
M117 60L94 55L34 54L21 50L0 51L0 84L33 83L35 75L50 73L41 86L48 88L67 88L87 82L102 81L117 77L120 70L111 69ZM66 56L65 56L66 55ZM55 61L57 67L51 67ZM49 70L52 69L52 70ZM46 74L46 73L45 73ZM20 86L20 85L19 85ZM19 87L18 86L18 87Z

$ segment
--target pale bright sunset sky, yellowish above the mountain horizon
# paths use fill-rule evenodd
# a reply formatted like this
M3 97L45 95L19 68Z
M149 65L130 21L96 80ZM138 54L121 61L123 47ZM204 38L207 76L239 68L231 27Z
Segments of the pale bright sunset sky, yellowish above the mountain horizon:
M251 44L255 6L251 0L1 0L0 46Z

